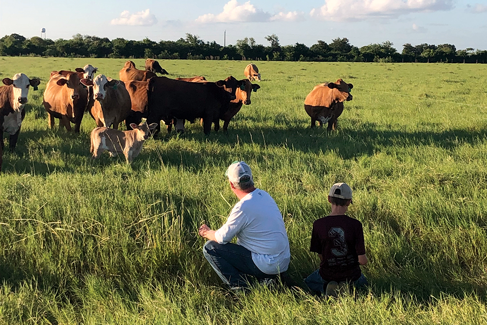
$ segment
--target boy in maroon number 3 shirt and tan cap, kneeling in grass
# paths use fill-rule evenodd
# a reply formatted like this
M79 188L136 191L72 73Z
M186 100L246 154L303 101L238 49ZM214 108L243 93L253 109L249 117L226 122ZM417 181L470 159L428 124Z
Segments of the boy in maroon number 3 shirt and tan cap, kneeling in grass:
M367 264L367 256L362 223L345 215L352 203L350 186L334 184L328 201L332 204L332 212L313 223L311 234L310 252L318 253L321 263L304 282L312 291L336 296L347 283L356 288L367 285L360 270L360 265Z

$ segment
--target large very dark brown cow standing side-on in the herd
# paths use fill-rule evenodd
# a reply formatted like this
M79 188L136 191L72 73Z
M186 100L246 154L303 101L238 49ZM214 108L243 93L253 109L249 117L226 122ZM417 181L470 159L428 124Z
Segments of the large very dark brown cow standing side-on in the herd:
M228 109L235 90L243 85L233 77L217 82L185 82L155 77L149 80L149 116L147 123L176 118L192 121L203 118L203 130L210 133L211 123ZM232 89L228 92L224 87ZM218 131L217 129L215 131Z

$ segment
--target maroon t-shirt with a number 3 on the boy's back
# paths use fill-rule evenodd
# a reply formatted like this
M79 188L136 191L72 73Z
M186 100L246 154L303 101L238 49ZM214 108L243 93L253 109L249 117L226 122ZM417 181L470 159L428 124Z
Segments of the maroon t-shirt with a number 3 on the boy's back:
M313 223L311 252L323 255L319 275L325 281L355 281L365 254L362 223L348 216L326 216Z

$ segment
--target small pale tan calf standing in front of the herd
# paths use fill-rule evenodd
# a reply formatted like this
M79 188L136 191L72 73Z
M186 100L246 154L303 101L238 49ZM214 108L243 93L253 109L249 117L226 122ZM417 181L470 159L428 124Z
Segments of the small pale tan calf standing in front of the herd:
M108 127L96 127L91 132L90 152L93 159L98 158L103 151L108 150L110 155L113 153L123 153L127 163L137 157L142 150L142 144L149 138L150 133L157 127L156 123L149 126L131 124L130 131L119 131Z

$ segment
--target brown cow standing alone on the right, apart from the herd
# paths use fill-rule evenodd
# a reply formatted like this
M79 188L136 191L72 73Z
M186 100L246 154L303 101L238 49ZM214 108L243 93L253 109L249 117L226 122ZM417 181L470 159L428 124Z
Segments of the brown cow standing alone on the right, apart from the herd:
M335 130L338 116L343 111L343 102L353 98L350 93L352 88L354 85L347 84L342 79L338 79L336 83L327 82L315 86L304 100L304 109L311 117L311 127L315 127L316 121L319 121L320 126L328 123L327 129Z

